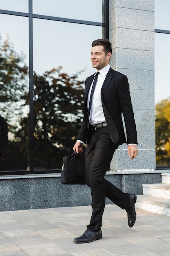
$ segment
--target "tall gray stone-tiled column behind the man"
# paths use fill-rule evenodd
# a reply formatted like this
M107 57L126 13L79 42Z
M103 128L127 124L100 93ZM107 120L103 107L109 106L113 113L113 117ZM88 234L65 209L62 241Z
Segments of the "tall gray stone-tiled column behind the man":
M128 77L139 154L119 146L110 171L155 169L154 0L110 0L110 65Z

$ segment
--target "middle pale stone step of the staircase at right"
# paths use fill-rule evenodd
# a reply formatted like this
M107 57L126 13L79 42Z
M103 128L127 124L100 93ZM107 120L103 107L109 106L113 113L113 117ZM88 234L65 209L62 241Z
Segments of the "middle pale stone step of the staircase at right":
M170 199L170 184L143 184L143 195Z

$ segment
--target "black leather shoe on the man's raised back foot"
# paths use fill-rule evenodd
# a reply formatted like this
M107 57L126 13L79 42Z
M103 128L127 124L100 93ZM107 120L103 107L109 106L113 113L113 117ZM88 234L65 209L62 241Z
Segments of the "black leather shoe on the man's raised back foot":
M125 210L128 213L128 225L129 227L133 227L136 220L135 202L136 202L137 196L135 194L129 194L129 197L130 197L130 204Z

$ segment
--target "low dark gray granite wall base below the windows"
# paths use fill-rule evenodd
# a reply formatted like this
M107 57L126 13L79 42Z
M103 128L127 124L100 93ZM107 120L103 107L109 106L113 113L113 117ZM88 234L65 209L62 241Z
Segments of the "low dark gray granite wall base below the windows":
M166 171L167 172L167 171ZM160 183L162 171L107 172L106 180L126 193L142 194L142 184ZM61 174L0 176L0 211L91 205L86 185L63 185ZM106 204L113 203L106 198Z

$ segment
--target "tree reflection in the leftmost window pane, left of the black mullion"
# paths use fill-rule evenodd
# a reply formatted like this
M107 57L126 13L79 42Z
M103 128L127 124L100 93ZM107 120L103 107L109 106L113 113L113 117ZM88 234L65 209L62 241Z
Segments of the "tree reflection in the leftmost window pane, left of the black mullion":
M9 42L0 38L0 107L9 130L8 161L0 162L0 170L27 168L28 135L24 132L25 100L28 94L28 67L24 55L17 54ZM26 130L28 122L26 122Z

